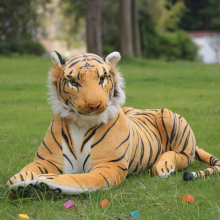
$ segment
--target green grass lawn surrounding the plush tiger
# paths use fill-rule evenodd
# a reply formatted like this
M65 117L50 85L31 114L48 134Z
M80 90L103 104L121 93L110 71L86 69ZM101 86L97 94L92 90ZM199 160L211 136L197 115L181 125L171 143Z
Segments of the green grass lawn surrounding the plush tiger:
M149 172L130 175L109 191L79 196L33 191L10 198L7 180L33 161L53 116L47 103L50 58L0 58L0 219L26 213L33 219L220 219L219 175L182 180L183 172L168 179ZM124 60L119 67L126 80L126 104L139 109L169 108L189 122L197 146L220 158L220 65L191 62ZM195 161L187 171L206 168ZM183 203L185 194L195 197ZM106 209L99 203L107 198ZM71 199L77 210L63 204Z

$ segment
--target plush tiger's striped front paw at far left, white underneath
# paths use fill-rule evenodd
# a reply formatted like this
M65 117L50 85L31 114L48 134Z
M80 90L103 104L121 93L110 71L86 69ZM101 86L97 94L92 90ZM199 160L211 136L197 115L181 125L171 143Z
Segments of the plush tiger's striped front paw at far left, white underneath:
M34 172L27 171L12 176L6 185L9 189L23 189L34 186L37 181L38 175Z

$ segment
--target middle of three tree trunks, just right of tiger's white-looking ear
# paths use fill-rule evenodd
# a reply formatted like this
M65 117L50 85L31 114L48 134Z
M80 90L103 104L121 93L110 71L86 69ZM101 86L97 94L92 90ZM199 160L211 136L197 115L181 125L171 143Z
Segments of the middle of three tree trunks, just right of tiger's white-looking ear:
M131 0L120 0L120 45L122 57L133 56Z

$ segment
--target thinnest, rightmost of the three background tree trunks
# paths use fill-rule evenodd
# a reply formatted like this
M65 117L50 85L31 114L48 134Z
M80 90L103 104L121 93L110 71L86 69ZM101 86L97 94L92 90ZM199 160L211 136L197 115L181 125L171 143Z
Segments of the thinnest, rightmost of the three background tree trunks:
M141 58L141 39L140 39L140 26L138 21L138 8L137 0L131 0L132 8L132 33L133 33L133 50L134 56Z

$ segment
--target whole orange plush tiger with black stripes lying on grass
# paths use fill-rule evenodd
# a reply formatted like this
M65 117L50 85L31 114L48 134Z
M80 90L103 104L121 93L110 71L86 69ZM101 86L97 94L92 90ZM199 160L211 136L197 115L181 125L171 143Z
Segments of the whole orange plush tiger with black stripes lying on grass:
M32 163L7 182L10 189L47 185L65 194L108 189L130 172L152 168L167 177L194 158L211 167L185 172L184 180L219 173L220 161L196 147L186 120L168 109L123 108L124 81L115 65L84 53L63 60L51 54L50 102L54 116Z

